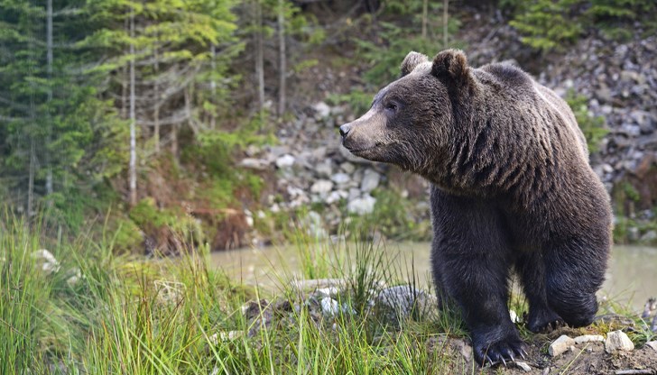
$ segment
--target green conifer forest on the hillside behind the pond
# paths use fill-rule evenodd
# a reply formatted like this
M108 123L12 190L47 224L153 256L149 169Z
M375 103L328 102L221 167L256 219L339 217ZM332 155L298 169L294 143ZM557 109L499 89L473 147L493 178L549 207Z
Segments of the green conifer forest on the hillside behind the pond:
M606 45L600 65L636 43L655 56L655 14L651 0L1 0L0 197L27 222L116 233L129 252L176 252L174 233L213 249L284 241L309 213L323 233L366 221L393 239L427 239L426 184L384 166L367 215L349 209L347 193L311 197L311 176L308 198L289 204L301 194L278 152L290 133L331 138L322 156L333 168L357 165L338 151L337 126L363 112L408 51L458 47L476 65L514 59L549 81L545 69L582 41ZM630 62L652 72L632 86L645 92L569 80L560 94L607 175L616 241L653 243L657 114L639 107L634 134L614 111L654 95L655 61ZM629 167L607 161L625 131L638 140L625 149L641 152Z

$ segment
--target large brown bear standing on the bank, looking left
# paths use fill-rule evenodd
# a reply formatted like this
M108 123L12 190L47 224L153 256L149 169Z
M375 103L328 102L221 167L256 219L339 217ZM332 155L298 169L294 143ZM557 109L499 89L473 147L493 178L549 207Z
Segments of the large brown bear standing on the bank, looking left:
M527 326L589 325L605 279L612 215L563 100L508 64L433 61L411 52L366 114L340 126L356 156L431 183L431 266L456 301L478 363L514 361L525 344L509 317L510 271L529 302Z

